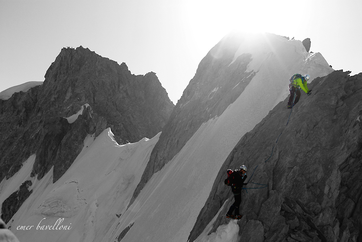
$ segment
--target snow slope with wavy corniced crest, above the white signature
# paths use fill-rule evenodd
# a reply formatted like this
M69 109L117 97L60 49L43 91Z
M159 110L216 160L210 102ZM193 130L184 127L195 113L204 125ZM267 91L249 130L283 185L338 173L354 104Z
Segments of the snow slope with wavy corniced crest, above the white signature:
M87 137L68 171L52 184L51 169L8 226L20 241L100 241L115 214L125 211L159 135L126 145L118 145L109 128L93 142ZM58 230L45 230L59 218ZM25 225L33 227L18 229Z

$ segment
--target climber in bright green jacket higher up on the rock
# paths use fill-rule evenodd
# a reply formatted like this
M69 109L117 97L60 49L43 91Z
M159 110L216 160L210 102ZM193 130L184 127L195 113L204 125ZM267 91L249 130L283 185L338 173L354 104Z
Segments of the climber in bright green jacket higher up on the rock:
M288 101L288 109L291 109L300 98L300 90L303 90L307 95L311 95L311 91L307 87L307 81L309 80L309 75L302 76L298 73L295 73L292 77L290 77L289 81L289 91L290 91L290 97ZM294 97L295 95L295 97ZM294 101L293 101L294 99Z

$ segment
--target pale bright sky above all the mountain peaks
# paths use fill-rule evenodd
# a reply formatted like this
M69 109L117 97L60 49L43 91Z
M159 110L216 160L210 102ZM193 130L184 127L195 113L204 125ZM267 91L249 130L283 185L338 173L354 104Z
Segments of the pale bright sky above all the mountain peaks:
M310 51L354 75L361 10L361 0L0 0L0 92L44 81L63 47L83 46L132 74L155 72L176 104L202 58L235 30L310 38Z

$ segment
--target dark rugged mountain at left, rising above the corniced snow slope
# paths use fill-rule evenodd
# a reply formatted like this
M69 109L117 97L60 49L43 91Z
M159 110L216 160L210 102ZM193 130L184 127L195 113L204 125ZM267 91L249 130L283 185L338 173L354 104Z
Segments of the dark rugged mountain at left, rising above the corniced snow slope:
M95 138L111 127L119 144L151 138L173 107L155 73L135 76L125 63L88 48L63 48L43 85L0 99L0 181L36 153L32 175L41 179L54 166L55 182L80 153L87 134ZM73 122L64 118L82 108Z

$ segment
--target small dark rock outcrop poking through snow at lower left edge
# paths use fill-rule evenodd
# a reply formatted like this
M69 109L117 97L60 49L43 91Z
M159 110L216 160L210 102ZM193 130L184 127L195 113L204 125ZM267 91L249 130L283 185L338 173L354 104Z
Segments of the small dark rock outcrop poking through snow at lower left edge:
M28 190L31 186L31 181L25 181L21 184L19 190L13 192L1 205L2 218L7 224L13 215L18 211L21 204L30 196L33 190Z

